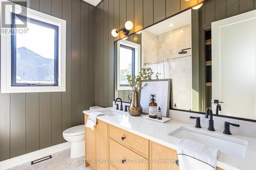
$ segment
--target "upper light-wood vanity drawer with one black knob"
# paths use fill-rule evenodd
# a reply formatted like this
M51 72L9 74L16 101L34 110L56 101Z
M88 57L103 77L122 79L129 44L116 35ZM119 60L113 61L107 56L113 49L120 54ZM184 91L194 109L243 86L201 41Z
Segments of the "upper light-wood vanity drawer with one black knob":
M109 137L148 159L149 140L109 125Z

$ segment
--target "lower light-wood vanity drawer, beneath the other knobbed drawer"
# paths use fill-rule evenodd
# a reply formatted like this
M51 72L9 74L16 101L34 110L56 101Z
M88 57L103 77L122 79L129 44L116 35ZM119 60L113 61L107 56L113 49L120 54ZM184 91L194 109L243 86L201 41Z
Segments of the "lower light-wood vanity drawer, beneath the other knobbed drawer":
M118 169L148 170L149 163L144 157L109 139L110 160Z

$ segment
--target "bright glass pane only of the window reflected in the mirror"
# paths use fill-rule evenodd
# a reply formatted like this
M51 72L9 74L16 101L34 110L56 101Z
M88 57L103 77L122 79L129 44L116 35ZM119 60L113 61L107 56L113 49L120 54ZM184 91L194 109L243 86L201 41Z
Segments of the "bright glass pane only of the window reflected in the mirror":
M120 46L120 86L129 86L126 75L132 75L133 50Z

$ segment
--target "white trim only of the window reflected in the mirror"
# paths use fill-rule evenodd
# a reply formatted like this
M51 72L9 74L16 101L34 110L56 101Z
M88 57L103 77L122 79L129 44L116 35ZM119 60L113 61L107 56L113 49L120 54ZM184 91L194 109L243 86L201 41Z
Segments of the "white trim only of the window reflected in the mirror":
M117 41L117 90L132 90L130 86L120 86L120 45L121 44L135 48L135 76L138 75L141 68L140 44L127 41L127 40Z

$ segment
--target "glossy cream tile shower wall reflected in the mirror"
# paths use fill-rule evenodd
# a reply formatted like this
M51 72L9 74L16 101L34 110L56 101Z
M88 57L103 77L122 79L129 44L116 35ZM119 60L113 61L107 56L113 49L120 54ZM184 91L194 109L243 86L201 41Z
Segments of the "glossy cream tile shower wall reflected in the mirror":
M183 32L181 32L183 31ZM182 26L166 33L155 35L142 32L142 63L169 60L169 78L173 79L173 99L177 109L191 109L192 61L191 25ZM181 58L180 58L181 57Z

